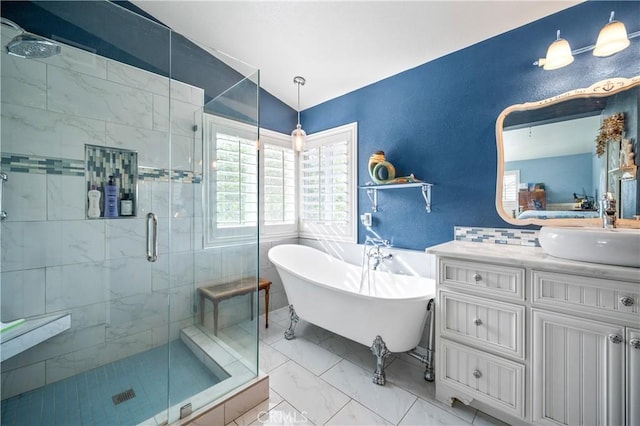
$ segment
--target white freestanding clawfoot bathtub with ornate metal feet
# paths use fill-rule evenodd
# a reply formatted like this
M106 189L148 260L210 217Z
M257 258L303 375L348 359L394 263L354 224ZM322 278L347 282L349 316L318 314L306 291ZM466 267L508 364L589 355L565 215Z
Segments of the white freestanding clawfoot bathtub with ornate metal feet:
M287 298L293 338L298 318L371 346L378 357L374 382L384 384L384 358L420 342L435 281L398 275L339 260L312 247L283 244L269 250ZM382 365L380 365L382 364ZM377 377L376 377L377 376Z

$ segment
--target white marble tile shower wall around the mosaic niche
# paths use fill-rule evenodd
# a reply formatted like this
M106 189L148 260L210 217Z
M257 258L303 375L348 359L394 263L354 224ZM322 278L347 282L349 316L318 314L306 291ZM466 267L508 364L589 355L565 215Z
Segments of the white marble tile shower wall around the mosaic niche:
M3 52L0 74L2 319L72 314L71 330L2 363L7 398L177 338L193 323L194 283L257 265L255 245L230 260L202 247L201 89L69 46L44 60ZM136 218L86 219L85 144L138 152Z

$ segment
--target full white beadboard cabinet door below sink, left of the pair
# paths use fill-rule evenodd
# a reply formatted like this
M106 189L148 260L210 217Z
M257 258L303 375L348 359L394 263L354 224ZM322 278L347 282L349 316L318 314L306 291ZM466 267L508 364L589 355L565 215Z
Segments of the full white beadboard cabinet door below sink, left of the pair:
M533 421L624 424L624 328L533 310Z

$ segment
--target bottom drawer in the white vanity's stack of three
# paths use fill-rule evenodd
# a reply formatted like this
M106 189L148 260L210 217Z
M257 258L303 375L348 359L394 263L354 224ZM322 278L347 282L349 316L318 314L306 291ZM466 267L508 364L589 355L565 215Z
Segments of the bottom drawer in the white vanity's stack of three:
M505 413L524 417L525 367L447 339L438 348L438 380Z

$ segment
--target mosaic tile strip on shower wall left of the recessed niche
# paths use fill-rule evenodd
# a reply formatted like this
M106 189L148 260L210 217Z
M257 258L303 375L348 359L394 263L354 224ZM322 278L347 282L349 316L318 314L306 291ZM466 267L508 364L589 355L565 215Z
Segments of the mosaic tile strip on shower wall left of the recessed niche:
M2 169L8 172L84 176L82 160L3 153L0 164Z

